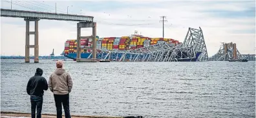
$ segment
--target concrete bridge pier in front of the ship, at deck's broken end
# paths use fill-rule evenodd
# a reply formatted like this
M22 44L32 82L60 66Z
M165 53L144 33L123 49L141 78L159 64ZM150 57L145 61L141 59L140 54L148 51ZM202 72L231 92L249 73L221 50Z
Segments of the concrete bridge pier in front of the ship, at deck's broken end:
M81 37L81 28L92 28L92 36ZM81 38L92 38L92 58L81 58L81 49L87 49L81 47ZM98 62L96 58L96 22L78 22L77 24L77 56L76 62Z

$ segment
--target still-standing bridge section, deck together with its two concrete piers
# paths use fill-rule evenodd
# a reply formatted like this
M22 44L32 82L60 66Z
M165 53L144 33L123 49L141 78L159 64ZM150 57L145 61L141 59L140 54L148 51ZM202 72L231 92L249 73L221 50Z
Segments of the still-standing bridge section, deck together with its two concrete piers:
M87 15L71 15L63 13L48 13L48 12L32 12L24 10L10 10L1 8L1 17L17 17L23 18L26 21L26 44L25 44L25 62L30 62L29 48L34 48L34 62L38 63L39 59L39 44L38 44L38 21L41 19L57 20L57 21L77 21L77 40L78 40L78 61L81 57L81 38L92 38L92 62L96 58L96 22L93 22L92 16ZM29 31L30 21L35 22L35 31ZM92 36L81 37L81 28L92 28ZM34 35L34 45L30 45L30 35Z

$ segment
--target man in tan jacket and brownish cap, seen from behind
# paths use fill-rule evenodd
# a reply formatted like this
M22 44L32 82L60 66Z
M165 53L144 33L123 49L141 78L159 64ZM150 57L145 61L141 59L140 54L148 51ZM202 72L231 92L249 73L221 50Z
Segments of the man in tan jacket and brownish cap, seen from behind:
M62 105L65 111L65 117L70 118L69 111L69 93L72 89L72 79L70 74L62 69L63 63L56 62L57 69L50 74L48 87L54 93L54 101L57 110L57 118L62 117Z

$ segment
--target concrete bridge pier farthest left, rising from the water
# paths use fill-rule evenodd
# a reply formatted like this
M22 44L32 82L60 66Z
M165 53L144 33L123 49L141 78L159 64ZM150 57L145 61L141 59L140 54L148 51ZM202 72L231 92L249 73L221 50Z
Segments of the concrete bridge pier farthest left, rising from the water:
M25 62L30 62L30 58L29 58L29 49L30 48L34 48L34 63L38 63L39 59L39 46L38 46L38 21L40 19L35 18L35 19L24 19L24 21L26 21L26 46L25 46ZM29 23L30 21L34 21L35 22L35 31L29 31ZM34 35L34 45L30 45L30 35Z

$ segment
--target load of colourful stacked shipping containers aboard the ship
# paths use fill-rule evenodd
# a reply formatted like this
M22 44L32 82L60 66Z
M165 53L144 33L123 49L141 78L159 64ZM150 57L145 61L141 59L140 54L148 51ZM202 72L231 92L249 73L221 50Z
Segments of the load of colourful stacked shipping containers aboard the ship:
M100 51L101 49L125 51L128 49L138 49L141 47L147 47L162 42L167 42L172 45L182 44L181 42L178 42L178 40L174 40L173 38L149 38L140 37L140 35L134 35L133 37L96 37L96 49L98 51ZM92 38L81 38L80 46L91 48ZM76 52L77 47L78 42L76 42L76 40L67 40L65 42L65 53L74 53ZM85 53L86 52L87 51L85 51Z

